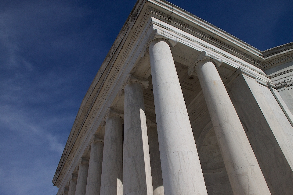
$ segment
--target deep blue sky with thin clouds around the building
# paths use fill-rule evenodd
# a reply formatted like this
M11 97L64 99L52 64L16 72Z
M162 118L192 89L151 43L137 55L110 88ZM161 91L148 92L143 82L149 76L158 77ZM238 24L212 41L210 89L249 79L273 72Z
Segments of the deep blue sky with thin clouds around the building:
M135 4L0 1L0 195L52 184L81 101ZM293 41L291 1L171 1L266 50Z

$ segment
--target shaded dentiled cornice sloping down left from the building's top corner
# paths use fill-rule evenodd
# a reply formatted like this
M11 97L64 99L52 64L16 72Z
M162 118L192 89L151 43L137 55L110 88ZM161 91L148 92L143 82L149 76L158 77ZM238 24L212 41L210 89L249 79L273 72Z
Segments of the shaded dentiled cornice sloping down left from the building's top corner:
M139 9L134 14L135 17L138 17L138 15L140 13L139 11L142 8L143 4L144 4L144 2L142 1L141 4L139 5ZM76 129L79 129L78 130L79 133L76 135L76 138L75 138L75 141L74 141L74 147L72 147L70 149L70 151L68 151L68 145L69 144L67 144L66 147L64 148L63 154L62 154L61 159L60 159L60 163L58 165L58 168L56 170L55 176L54 176L53 181L52 181L55 186L58 187L60 185L60 182L62 181L63 177L67 173L67 170L69 169L69 166L70 166L75 154L77 153L78 148L81 145L82 140L84 139L86 133L88 132L93 120L95 119L98 110L100 109L103 101L106 98L106 95L108 94L108 91L109 91L110 87L112 86L112 83L114 82L114 80L118 76L118 73L121 70L121 67L124 65L125 59L127 59L127 56L130 53L130 51L132 49L132 46L134 45L137 37L139 36L139 34L140 34L144 24L146 23L148 17L149 17L149 12L147 10L145 10L144 13L143 13L143 16L141 17L141 19L139 20L137 26L135 27L134 32L132 33L132 36L130 36L129 41L124 44L125 49L123 50L121 57L115 61L115 62L118 62L118 63L116 64L116 66L113 66L111 68L112 73L107 76L107 79L105 79L105 82L100 86L100 87L103 87L103 89L98 90L96 92L96 95L92 96L93 98L90 101L88 100L91 103L91 106L87 107L87 112L85 112L85 115L83 115L82 118L81 118L81 120L84 121L84 122L81 123L79 127L76 127ZM136 19L132 19L131 22L135 23ZM128 35L128 37L129 37L129 35ZM98 95L100 95L99 98L98 98ZM95 107L93 107L94 102L96 102ZM87 122L85 122L86 119L88 119ZM65 165L65 161L67 162L66 165Z

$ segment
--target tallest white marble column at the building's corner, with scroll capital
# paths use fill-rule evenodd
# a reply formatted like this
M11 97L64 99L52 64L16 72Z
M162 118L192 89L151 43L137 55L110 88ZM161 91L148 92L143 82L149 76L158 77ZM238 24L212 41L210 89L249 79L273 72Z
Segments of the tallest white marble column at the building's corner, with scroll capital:
M150 39L150 66L165 194L207 195L170 49L176 45L177 39L166 37L157 30Z

